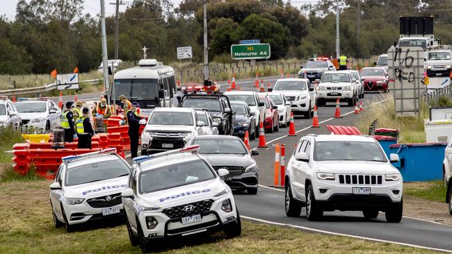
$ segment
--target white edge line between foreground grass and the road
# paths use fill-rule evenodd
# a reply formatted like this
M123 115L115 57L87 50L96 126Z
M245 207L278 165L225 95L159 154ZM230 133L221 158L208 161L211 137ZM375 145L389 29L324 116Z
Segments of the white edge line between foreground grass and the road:
M290 227L290 228L298 228L298 229L312 231L312 232L318 232L318 233L322 233L322 234L339 235L339 236L342 236L342 237L353 237L353 238L363 239L363 240L368 240L368 241L373 241L373 242L384 242L384 243L388 243L388 244L398 244L398 245L414 247L414 248L423 248L423 249L431 250L431 251L443 251L443 252L446 252L446 253L452 253L452 251L444 250L442 248L432 248L432 247L420 246L420 245L416 245L416 244L406 244L406 243L403 243L403 242L388 241L388 240L376 239L376 238L371 238L371 237L360 237L360 236L357 236L357 235L348 235L348 234L343 234L343 233L338 233L338 232L331 232L331 231L326 231L326 230L320 230L320 229L316 229L316 228L307 228L307 227L297 226L297 225L292 225L292 224L279 223L279 222L274 222L274 221L266 221L264 219L257 219L257 218L253 218L253 217L243 216L243 215L241 215L240 217L243 218L243 219L249 219L251 221L258 221L258 222L272 224L272 225L276 225L276 226L287 226L287 227Z

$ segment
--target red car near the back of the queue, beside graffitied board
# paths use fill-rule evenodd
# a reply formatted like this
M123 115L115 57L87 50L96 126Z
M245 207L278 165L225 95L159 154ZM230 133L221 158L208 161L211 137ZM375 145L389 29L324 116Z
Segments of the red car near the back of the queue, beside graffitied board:
M365 91L388 92L388 75L383 67L366 67L360 71Z

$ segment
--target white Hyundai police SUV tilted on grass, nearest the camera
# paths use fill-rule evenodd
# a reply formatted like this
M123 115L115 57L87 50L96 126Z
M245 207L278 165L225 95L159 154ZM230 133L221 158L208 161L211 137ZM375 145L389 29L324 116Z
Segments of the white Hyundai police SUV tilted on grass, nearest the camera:
M132 245L147 251L156 239L223 229L241 234L231 189L197 153L198 145L134 158L128 188L122 192Z

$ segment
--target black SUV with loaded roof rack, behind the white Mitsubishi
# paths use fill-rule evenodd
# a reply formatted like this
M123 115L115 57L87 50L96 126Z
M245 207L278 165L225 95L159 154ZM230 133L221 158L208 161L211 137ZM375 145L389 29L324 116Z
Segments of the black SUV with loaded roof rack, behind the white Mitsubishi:
M220 135L232 135L235 121L235 112L232 112L231 103L223 94L184 94L179 107L207 110L214 122L218 124Z

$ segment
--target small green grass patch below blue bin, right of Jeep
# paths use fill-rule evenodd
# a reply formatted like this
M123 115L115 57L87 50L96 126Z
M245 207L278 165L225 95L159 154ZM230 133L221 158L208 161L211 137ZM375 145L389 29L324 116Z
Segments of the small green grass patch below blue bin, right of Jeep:
M403 194L417 196L429 201L444 203L446 192L447 187L444 186L442 180L403 184Z

